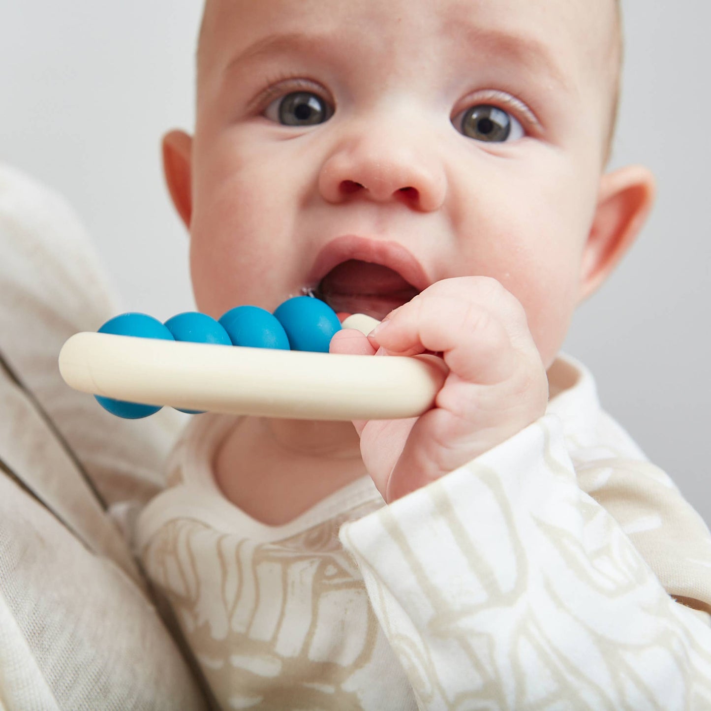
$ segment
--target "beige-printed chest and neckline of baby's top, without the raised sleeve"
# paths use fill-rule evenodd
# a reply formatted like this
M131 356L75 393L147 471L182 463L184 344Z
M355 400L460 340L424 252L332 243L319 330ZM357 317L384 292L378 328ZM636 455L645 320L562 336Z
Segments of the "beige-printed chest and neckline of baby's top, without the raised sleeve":
M144 511L144 565L223 708L370 708L415 700L379 629L341 524L383 506L360 479L283 526L232 506L210 461L233 417L201 415L171 458L173 488Z

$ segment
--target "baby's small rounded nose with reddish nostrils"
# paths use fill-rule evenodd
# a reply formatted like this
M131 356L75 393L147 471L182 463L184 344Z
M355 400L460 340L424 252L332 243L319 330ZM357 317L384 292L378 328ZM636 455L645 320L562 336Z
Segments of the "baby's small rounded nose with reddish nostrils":
M391 134L343 141L325 161L319 188L330 203L399 201L432 212L444 202L446 180L432 151L418 148L414 137Z

